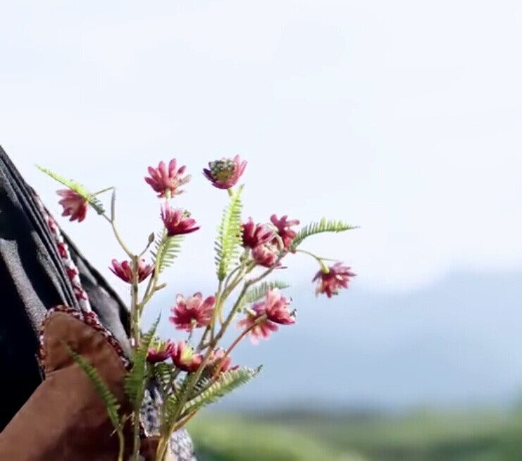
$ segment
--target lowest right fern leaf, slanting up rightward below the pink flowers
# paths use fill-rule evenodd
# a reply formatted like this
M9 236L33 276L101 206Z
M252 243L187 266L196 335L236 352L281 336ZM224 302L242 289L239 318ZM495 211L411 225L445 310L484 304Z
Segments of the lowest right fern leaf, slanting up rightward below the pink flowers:
M206 388L206 390L197 395L197 397L187 402L187 405L183 408L183 414L191 414L192 412L200 410L202 407L206 407L206 405L218 402L218 400L228 393L231 393L236 388L253 379L259 374L259 371L261 371L261 367L256 369L240 368L225 371L225 373L220 374L218 381Z

